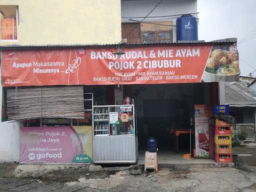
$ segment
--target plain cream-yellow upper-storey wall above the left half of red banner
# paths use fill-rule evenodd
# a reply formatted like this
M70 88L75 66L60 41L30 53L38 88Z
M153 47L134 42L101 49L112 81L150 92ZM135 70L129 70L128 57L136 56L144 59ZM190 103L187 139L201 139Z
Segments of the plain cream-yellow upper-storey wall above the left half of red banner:
M1 45L115 44L121 39L120 0L0 0L0 5L17 5L19 18L17 40Z

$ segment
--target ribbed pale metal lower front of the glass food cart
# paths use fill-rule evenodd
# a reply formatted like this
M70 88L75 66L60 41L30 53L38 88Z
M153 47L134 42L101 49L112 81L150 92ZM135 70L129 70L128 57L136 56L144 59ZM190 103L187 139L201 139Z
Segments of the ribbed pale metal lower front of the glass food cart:
M94 161L136 161L134 135L94 136Z

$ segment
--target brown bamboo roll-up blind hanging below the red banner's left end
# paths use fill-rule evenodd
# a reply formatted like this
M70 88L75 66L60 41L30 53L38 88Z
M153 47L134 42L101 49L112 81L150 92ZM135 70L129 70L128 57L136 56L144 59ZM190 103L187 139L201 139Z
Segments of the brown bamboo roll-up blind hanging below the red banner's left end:
M8 120L84 118L82 86L11 87L6 103Z

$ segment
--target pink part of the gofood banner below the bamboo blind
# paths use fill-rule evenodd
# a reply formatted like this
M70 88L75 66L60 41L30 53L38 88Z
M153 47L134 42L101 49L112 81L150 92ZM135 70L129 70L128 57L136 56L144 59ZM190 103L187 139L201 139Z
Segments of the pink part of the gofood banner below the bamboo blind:
M19 151L21 163L92 162L72 126L21 127Z

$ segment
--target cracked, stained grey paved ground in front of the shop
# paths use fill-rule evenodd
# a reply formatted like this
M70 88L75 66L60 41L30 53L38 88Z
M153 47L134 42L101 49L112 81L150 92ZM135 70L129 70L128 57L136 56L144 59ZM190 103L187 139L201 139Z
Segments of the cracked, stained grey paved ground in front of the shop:
M22 166L15 164L0 165L0 192L118 192L118 191L256 191L256 145L233 148L233 167L197 167L185 170L161 168L159 172L129 175L127 170L111 171L90 170L87 166L68 167L58 165L57 169L37 165L25 166L33 171L33 177L22 178L25 174ZM53 166L56 167L56 166ZM37 167L38 168L38 167ZM15 170L15 171L14 171ZM21 178L11 177L12 173ZM4 174L3 174L4 173ZM9 176L9 177L3 177ZM30 174L31 175L31 174ZM33 179L32 179L33 178Z

